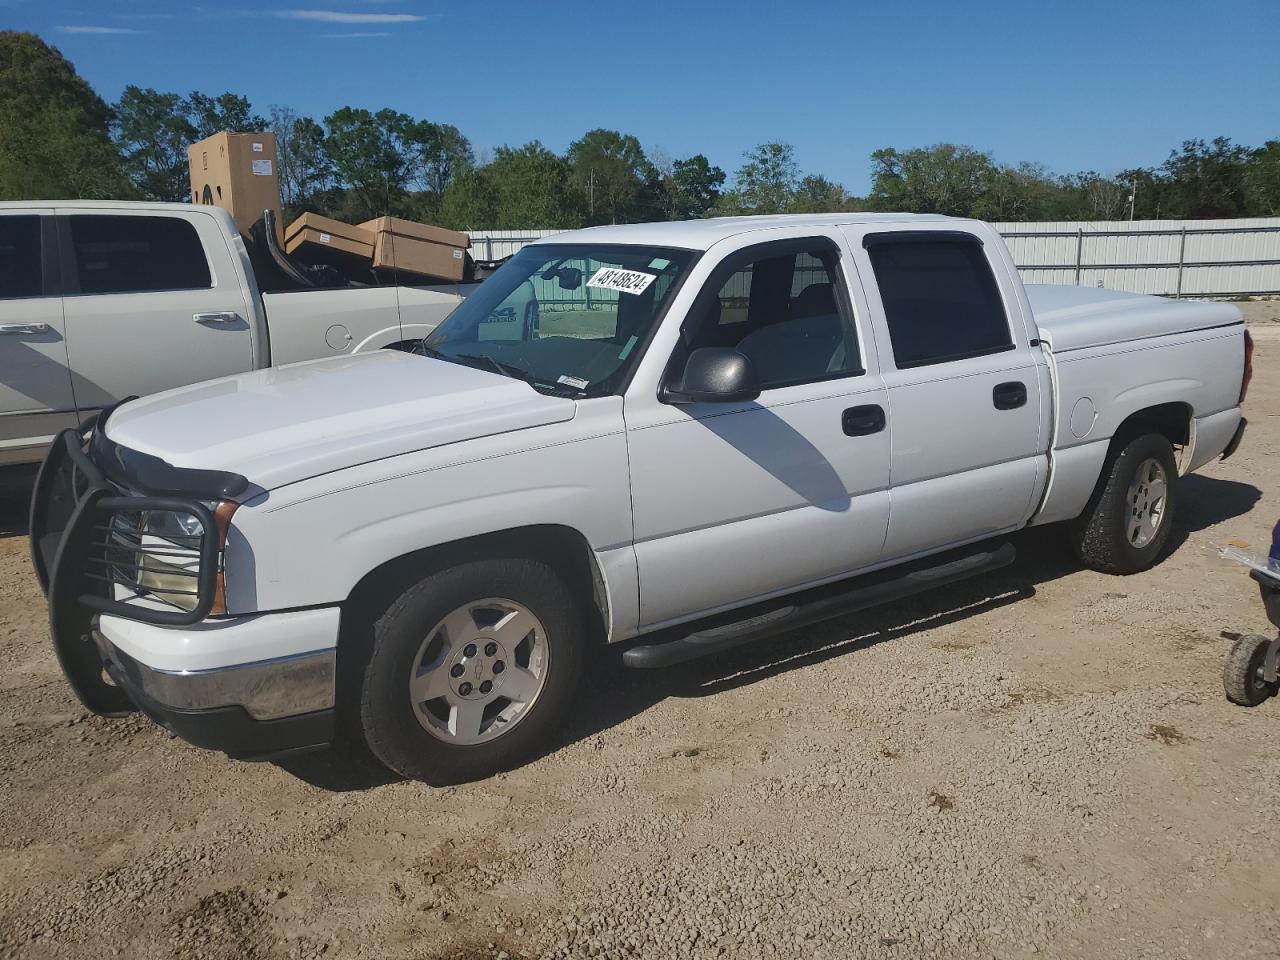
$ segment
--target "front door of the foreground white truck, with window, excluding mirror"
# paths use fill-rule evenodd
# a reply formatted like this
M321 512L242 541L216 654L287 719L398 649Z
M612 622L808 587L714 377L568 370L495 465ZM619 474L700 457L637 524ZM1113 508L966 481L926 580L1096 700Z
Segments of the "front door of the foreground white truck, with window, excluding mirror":
M694 301L668 375L692 349L735 347L756 369L756 401L676 406L648 388L628 390L641 628L879 558L887 399L879 376L864 370L841 259L832 237L746 246Z

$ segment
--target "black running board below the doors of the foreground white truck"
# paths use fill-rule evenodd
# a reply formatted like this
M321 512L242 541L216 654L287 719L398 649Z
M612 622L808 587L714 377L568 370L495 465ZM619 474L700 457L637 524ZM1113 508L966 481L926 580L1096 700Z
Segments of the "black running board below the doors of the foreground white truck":
M627 667L640 668L672 667L759 640L782 630L795 630L846 613L856 613L870 607L904 600L908 596L915 596L947 584L968 580L978 573L1000 570L1012 563L1016 556L1018 552L1011 543L1001 544L991 550L972 553L933 567L913 570L910 573L902 573L892 580L855 586L808 603L792 603L755 617L689 634L678 640L640 644L622 654L622 663Z

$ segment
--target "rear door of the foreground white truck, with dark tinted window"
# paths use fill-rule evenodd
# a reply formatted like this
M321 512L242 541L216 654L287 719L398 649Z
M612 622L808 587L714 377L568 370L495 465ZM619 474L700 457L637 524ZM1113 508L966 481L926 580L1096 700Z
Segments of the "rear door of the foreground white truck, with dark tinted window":
M1019 526L1044 470L1043 367L979 232L846 228L872 305L892 435L884 558Z

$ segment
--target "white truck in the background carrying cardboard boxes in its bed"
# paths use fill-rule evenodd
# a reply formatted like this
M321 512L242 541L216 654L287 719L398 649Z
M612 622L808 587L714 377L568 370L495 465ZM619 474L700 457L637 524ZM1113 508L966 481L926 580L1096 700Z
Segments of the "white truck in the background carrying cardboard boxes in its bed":
M470 289L274 266L219 207L0 204L0 466L124 397L421 339Z

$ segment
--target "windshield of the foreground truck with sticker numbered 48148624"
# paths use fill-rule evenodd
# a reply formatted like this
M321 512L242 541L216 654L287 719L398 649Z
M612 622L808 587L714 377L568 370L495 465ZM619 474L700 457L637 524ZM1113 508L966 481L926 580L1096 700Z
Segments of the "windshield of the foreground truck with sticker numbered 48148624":
M525 247L422 342L422 352L527 380L543 393L612 393L695 257L628 244Z

